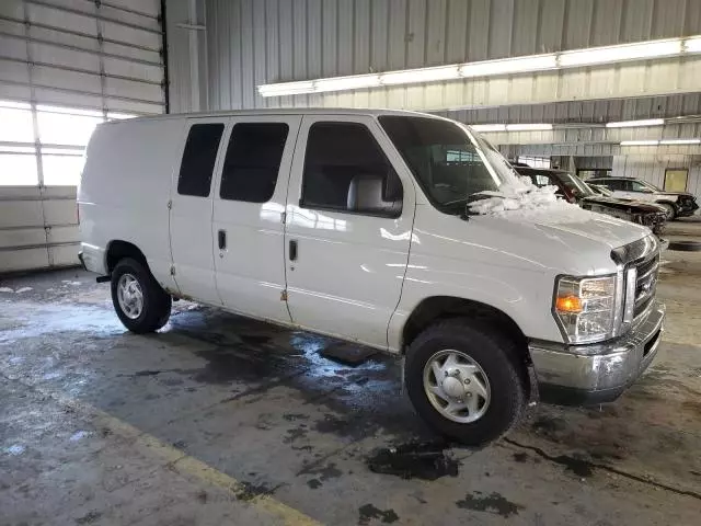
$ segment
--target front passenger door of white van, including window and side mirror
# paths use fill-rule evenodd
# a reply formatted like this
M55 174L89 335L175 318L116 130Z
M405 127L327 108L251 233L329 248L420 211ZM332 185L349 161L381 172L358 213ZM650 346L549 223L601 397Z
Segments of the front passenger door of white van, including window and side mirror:
M406 270L415 193L377 121L302 119L287 198L292 322L387 348Z

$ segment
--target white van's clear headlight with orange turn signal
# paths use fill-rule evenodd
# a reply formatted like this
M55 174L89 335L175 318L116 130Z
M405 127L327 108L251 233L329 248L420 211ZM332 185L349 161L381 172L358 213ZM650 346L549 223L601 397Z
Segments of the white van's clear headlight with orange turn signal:
M617 276L560 276L553 315L568 343L594 343L612 338L617 321Z

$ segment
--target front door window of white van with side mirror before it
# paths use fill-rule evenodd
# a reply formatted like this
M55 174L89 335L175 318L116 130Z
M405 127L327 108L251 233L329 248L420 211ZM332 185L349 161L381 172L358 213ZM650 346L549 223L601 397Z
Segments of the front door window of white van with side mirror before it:
M399 176L366 126L310 127L300 206L399 217L402 195Z

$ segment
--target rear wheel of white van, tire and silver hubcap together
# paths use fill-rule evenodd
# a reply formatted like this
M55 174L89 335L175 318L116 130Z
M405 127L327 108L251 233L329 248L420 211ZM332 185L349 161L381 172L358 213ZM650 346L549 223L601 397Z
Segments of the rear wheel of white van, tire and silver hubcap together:
M142 263L125 258L112 271L112 302L119 320L131 332L153 332L171 315L171 297Z

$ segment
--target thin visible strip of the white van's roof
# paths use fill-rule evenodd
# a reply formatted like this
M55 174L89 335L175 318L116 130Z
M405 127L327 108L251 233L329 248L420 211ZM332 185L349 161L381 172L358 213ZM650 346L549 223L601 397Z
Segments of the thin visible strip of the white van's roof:
M145 117L136 117L129 119L114 119L110 123L141 121L141 119L170 119L170 118L196 118L196 117L229 117L229 116L250 116L250 115L398 115L429 117L444 119L445 117L432 115L428 113L410 112L406 110L387 110L387 108L349 108L349 107L267 107L262 110L223 110L217 112L199 112L199 113L168 113L162 115L149 115Z

